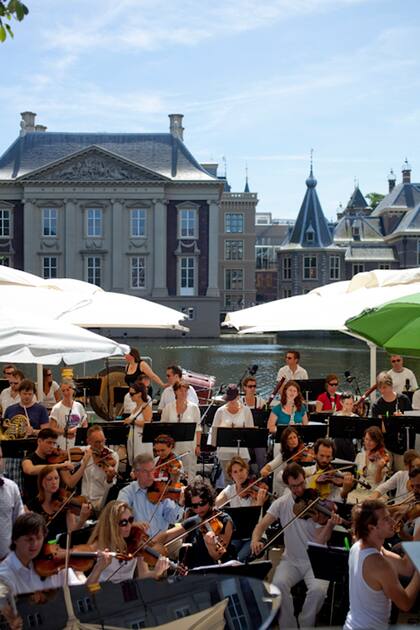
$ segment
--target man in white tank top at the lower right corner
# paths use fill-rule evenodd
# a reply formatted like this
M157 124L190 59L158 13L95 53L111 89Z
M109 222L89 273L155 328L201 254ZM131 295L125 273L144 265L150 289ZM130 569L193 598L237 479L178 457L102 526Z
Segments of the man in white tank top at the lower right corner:
M416 601L420 580L408 556L384 549L393 536L394 520L380 501L363 501L352 512L357 538L350 550L350 609L344 630L382 630L388 627L391 602L408 611ZM399 575L413 575L404 589Z

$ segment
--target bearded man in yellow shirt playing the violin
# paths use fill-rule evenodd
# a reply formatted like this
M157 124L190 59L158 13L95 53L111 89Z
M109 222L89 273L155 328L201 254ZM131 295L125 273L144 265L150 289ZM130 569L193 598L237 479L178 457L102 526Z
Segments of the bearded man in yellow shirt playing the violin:
M334 476L335 469L331 464L335 456L334 442L329 438L318 438L314 444L314 453L315 465L305 468L308 488L317 490L323 499L336 502L346 500L353 488L353 476L348 471L343 472L342 477ZM331 474L329 481L328 472ZM318 481L321 475L327 478L322 483Z

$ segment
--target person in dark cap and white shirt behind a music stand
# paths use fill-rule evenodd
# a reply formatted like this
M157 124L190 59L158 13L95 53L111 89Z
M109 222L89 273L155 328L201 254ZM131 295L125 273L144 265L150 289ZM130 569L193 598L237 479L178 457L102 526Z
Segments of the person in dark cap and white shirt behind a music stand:
M213 424L211 425L211 444L217 446L217 429L220 428L252 428L254 426L254 418L249 407L246 407L240 400L239 389L236 385L231 384L226 388L224 396L226 404L214 414ZM217 457L226 476L229 460L239 455L245 461L249 461L249 452L247 448L239 449L232 446L219 446L217 448Z

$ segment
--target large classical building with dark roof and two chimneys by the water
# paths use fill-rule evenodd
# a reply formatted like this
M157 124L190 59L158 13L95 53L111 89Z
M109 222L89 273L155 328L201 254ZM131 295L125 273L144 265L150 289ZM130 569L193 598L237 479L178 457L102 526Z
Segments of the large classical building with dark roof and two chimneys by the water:
M0 257L44 277L87 280L188 313L218 334L223 183L169 133L52 133L22 114L0 157Z

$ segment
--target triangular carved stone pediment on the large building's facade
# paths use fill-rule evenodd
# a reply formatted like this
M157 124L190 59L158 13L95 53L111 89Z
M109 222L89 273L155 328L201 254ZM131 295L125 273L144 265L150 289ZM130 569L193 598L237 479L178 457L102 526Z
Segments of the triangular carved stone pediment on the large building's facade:
M78 151L57 162L51 162L19 179L25 182L99 182L104 184L168 181L159 173L97 146Z

